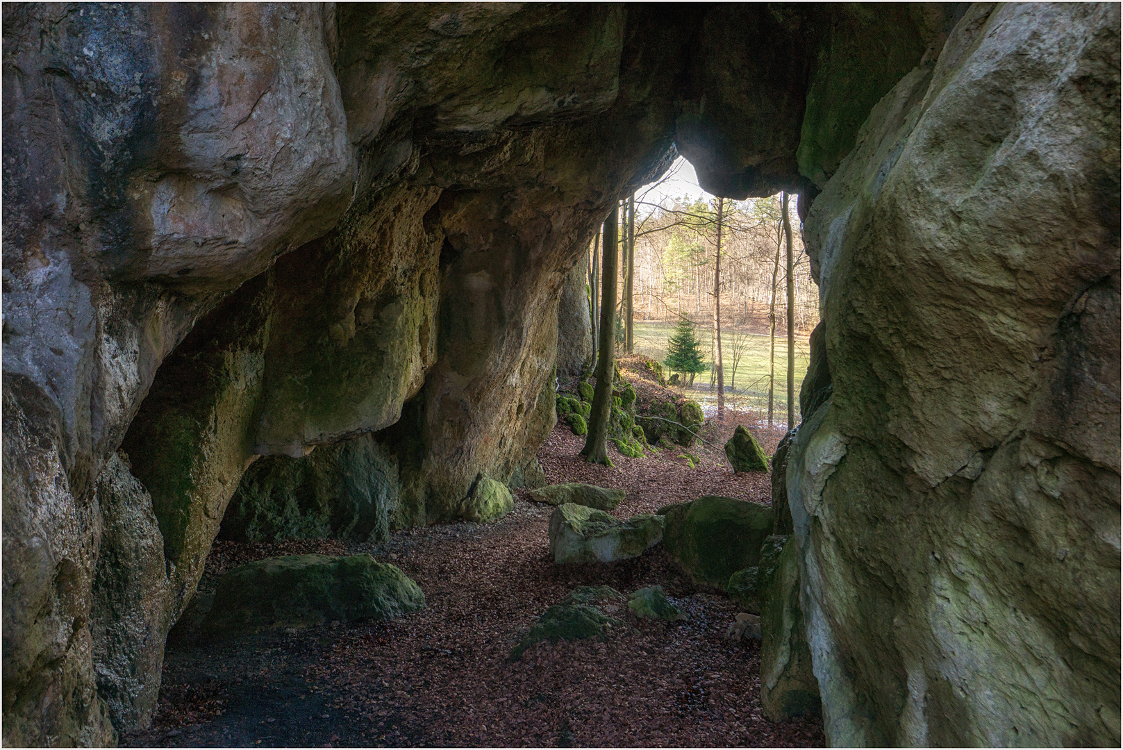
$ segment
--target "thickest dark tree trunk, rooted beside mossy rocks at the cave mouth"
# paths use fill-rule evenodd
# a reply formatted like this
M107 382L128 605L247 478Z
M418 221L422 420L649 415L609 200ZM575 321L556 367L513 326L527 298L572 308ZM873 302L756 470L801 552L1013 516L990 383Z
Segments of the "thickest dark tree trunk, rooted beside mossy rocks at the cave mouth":
M617 274L620 253L617 247L619 205L615 203L604 222L604 271L601 274L601 357L596 363L596 390L588 414L588 437L581 455L590 464L612 465L609 460L609 419L612 414L612 376L615 374L613 338L617 331Z

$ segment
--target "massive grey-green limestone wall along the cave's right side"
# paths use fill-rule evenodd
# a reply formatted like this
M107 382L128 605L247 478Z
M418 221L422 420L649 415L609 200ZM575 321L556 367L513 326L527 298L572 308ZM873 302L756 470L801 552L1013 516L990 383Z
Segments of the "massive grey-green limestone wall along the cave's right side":
M1119 33L973 6L807 213L832 392L786 482L832 744L1120 742Z

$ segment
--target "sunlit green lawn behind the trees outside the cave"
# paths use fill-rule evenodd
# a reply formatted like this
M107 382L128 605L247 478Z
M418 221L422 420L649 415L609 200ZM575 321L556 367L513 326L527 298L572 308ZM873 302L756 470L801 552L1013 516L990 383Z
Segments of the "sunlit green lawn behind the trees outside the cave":
M636 353L647 355L652 359L663 362L667 357L667 339L674 332L675 323L639 322L634 323ZM702 350L705 353L709 365L710 346L712 330L699 327L695 329L699 340L702 341ZM733 369L733 357L737 348L742 349L741 358L737 364L737 375L731 377ZM759 336L736 330L722 330L721 348L725 363L725 387L730 382L733 384L733 392L727 391L727 402L732 400L738 409L757 410L766 412L768 410L768 336ZM810 356L807 337L796 336L795 338L795 399L796 415L798 418L800 385L803 376L807 372L807 359ZM669 375L669 374L668 374ZM700 373L694 378L694 387L690 390L690 396L703 406L712 405L715 393L710 390L710 372ZM707 410L709 411L709 410ZM783 421L787 413L787 340L776 339L776 390L775 390L775 414L776 421Z

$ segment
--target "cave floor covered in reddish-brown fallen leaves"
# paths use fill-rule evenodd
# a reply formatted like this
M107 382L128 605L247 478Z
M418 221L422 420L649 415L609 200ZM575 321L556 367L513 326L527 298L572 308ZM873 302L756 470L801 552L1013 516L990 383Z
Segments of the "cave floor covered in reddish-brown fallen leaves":
M704 435L722 445L737 421ZM758 432L766 450L783 430ZM626 518L702 494L769 502L765 474L733 475L713 448L690 468L667 451L615 468L576 458L583 445L555 428L539 451L547 478L628 491ZM724 639L738 607L696 591L655 547L615 564L556 566L553 509L517 492L489 524L449 523L378 545L302 540L217 542L199 606L168 638L152 729L128 747L822 747L822 723L761 716L759 643ZM417 580L428 606L390 622L353 622L214 640L199 626L218 576L273 555L367 551ZM539 643L506 658L547 606L584 584L628 593L661 584L686 613L678 623L637 622L596 641Z

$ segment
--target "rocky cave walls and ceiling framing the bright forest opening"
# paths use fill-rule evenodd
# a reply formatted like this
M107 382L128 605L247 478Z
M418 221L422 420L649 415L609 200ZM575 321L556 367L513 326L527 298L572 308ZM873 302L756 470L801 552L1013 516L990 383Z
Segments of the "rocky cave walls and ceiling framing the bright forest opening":
M540 484L563 287L679 155L797 196L772 486L825 741L1120 744L1119 4L4 3L3 40L6 744L147 726L270 487L385 540Z

